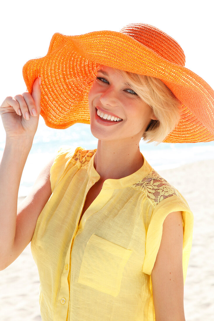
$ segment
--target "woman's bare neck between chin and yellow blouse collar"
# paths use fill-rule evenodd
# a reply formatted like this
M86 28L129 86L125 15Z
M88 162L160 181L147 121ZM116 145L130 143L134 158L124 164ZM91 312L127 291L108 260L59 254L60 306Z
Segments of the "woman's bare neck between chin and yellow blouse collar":
M106 179L120 179L135 173L143 166L139 142L98 141L94 156L94 168L100 175L100 183Z

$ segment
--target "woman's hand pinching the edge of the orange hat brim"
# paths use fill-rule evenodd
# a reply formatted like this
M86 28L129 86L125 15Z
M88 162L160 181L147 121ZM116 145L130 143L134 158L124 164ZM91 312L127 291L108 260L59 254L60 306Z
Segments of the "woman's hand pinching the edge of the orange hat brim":
M32 94L7 97L0 106L0 115L6 138L32 141L36 133L40 115L41 78L33 83Z

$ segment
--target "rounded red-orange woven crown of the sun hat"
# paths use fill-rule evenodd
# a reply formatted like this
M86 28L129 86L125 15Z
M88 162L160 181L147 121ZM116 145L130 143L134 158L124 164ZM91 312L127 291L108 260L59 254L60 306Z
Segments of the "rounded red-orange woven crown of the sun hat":
M144 23L131 23L120 32L137 40L173 64L185 65L185 55L179 43L160 29Z

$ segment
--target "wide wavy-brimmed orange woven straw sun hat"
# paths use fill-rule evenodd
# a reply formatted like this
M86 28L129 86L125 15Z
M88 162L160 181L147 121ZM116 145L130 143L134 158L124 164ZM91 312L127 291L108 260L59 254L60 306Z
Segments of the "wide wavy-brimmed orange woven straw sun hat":
M41 76L41 116L47 126L62 129L75 123L90 124L88 92L99 65L159 78L181 101L180 121L164 142L214 140L214 91L184 67L180 45L147 24L130 24L120 32L53 35L47 55L23 66L30 93Z

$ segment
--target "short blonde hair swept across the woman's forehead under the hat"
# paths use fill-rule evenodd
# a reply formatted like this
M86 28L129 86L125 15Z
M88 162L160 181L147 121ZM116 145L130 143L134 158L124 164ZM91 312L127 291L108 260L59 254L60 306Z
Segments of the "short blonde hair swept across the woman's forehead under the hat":
M136 94L149 105L157 120L151 120L142 138L146 143L161 143L173 131L181 117L181 105L172 91L159 79L115 69L131 85Z

